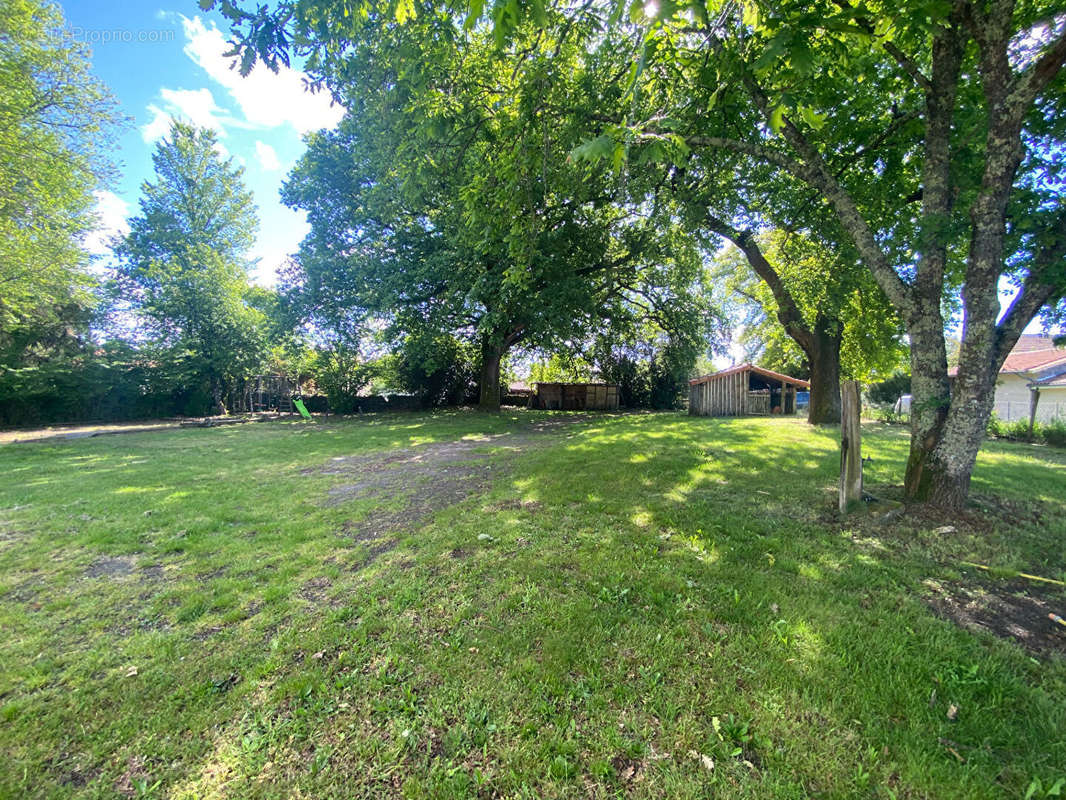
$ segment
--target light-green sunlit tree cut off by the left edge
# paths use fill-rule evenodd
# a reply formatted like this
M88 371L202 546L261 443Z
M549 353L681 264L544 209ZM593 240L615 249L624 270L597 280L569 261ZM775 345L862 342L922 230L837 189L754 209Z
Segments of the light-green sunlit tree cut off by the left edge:
M56 5L0 3L0 350L83 330L95 304L85 235L119 117Z

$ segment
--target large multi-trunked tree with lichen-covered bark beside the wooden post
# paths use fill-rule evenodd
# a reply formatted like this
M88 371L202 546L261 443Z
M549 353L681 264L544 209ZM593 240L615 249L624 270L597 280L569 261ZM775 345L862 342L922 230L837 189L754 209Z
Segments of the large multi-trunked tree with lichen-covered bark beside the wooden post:
M616 146L666 142L679 162L711 154L765 199L790 181L776 212L790 227L806 224L789 213L805 208L801 193L833 212L909 337L906 494L958 508L999 367L1066 292L1066 19L1053 3L1010 0L675 11L647 37L646 71L682 86L693 113L629 119ZM1018 292L1001 311L1004 281ZM956 297L952 380L943 309Z

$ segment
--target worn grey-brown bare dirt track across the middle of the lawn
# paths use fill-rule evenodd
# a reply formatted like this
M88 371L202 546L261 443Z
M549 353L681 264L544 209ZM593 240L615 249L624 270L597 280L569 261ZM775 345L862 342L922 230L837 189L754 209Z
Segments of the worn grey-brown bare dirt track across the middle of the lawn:
M366 516L344 526L346 535L370 542L393 531L409 530L436 512L481 494L494 477L514 465L520 453L558 442L567 435L567 428L587 419L576 415L478 438L369 455L341 455L303 474L342 477L343 482L327 491L329 505L365 498L381 500L381 506Z

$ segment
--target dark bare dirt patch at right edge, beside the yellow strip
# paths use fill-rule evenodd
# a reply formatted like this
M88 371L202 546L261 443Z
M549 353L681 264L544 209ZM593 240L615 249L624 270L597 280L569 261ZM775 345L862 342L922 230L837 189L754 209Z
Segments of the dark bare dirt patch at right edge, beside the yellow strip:
M1066 614L1066 595L1023 581L963 586L926 580L933 611L967 630L1013 639L1033 653L1066 656L1066 628L1048 619Z

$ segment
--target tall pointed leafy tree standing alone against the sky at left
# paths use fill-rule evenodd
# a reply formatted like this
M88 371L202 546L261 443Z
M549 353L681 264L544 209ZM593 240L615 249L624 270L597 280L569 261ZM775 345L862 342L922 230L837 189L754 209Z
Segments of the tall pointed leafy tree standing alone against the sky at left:
M118 244L116 283L157 347L180 358L217 413L233 379L265 356L266 318L254 307L245 253L257 221L243 167L213 131L175 123L156 148L156 180Z

